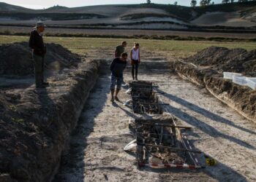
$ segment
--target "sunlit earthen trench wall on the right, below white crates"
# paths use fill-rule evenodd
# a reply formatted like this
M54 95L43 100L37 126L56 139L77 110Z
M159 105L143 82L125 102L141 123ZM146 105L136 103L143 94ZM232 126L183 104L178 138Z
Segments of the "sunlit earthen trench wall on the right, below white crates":
M171 68L197 86L205 87L214 97L221 100L239 114L256 122L256 90L223 79L222 74L211 68L200 68L182 61L171 62Z

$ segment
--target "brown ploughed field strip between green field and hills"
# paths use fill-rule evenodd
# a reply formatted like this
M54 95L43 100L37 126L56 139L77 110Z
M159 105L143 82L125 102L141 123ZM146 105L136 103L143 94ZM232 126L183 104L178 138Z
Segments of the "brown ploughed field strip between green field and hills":
M0 33L4 34L29 34L31 27L28 26L7 26L0 25ZM86 29L86 28L47 28L46 34L51 36L69 35L69 36L140 36L146 39L147 37L166 37L166 39L177 38L206 38L206 39L256 39L255 33L246 33L242 31L240 33L223 33L217 31L211 32L197 32L197 31L157 31L157 30L127 30L127 29Z

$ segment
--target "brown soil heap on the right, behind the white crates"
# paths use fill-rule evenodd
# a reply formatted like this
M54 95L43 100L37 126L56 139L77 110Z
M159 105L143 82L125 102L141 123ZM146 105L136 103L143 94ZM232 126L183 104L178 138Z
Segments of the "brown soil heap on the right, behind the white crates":
M185 61L197 66L210 66L218 71L232 71L256 76L256 50L229 50L225 47L208 47Z

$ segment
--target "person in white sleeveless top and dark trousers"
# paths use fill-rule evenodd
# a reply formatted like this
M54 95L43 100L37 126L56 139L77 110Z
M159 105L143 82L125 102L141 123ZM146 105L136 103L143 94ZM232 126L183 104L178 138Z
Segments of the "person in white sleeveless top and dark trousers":
M132 79L138 80L138 66L140 64L140 44L135 43L131 50Z

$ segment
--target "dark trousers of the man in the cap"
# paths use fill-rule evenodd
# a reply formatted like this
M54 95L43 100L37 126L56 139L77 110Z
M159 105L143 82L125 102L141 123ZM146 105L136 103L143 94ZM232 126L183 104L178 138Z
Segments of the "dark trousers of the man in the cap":
M45 57L33 54L33 59L36 87L42 87L42 83L44 82Z

